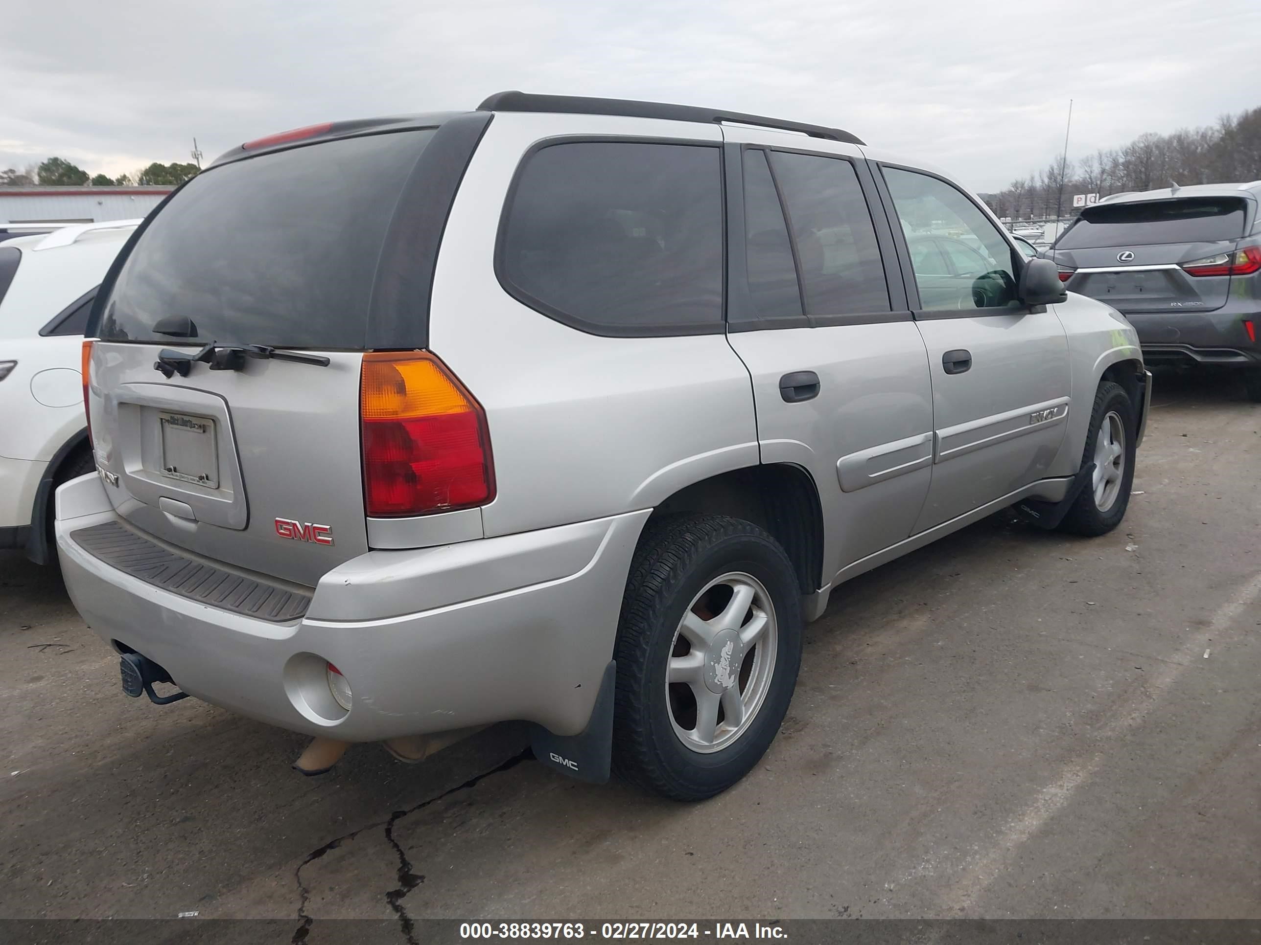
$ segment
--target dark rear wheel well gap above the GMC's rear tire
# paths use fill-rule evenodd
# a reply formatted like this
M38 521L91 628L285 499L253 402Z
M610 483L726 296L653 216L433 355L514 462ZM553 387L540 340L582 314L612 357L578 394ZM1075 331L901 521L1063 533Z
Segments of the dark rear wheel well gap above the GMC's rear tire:
M769 532L797 573L802 595L823 586L823 512L810 472L788 462L720 472L668 495L652 518L678 513L730 515Z

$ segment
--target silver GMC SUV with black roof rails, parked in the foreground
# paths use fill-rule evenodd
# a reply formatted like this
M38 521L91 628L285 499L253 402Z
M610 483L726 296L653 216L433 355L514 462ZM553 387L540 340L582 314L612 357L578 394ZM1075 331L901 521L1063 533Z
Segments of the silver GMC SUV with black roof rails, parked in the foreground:
M845 581L1011 505L1115 528L1150 392L937 171L520 92L223 155L87 338L55 530L129 694L315 736L305 771L522 719L678 799L763 755Z

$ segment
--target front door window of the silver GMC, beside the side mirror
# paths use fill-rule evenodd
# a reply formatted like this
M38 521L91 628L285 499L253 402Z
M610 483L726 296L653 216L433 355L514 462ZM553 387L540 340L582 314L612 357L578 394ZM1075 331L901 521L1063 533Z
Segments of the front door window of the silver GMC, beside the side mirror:
M1011 246L975 203L957 188L927 174L885 168L884 179L907 243L915 246L926 237L932 238L955 266L953 275L926 270L912 251L922 309L995 309L1015 304Z

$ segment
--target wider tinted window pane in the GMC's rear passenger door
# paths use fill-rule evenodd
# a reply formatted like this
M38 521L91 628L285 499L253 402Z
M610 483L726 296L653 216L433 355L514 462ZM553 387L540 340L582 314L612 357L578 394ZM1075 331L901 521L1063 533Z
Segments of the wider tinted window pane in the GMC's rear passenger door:
M788 205L806 314L889 311L880 247L854 165L783 151L770 161Z

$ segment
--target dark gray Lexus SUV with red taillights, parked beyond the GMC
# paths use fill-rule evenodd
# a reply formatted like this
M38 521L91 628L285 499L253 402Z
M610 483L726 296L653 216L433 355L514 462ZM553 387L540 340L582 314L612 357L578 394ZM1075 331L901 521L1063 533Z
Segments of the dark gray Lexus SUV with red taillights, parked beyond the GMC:
M1125 312L1149 364L1242 373L1261 402L1261 180L1113 194L1044 253Z

